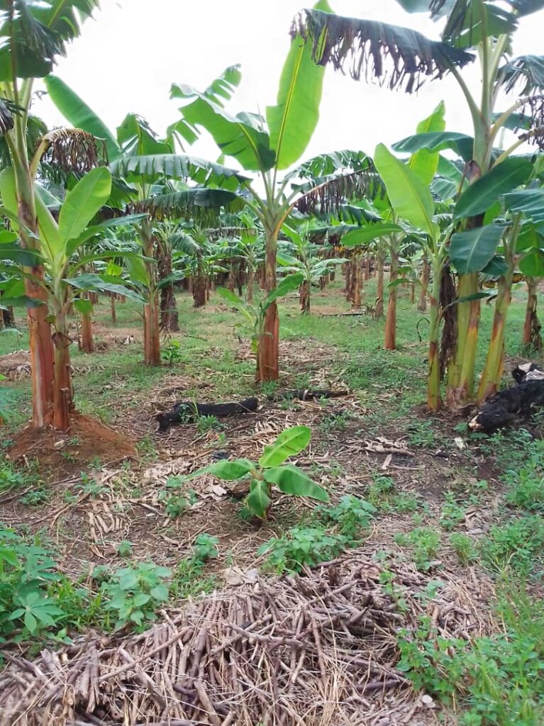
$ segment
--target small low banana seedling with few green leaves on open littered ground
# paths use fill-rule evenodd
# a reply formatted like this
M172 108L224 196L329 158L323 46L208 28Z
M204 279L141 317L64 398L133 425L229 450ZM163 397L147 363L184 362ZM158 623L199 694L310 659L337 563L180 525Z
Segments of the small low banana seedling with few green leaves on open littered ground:
M312 481L294 464L284 463L290 457L304 451L311 436L312 432L307 426L287 428L280 433L273 444L264 447L259 461L253 462L248 459L218 461L185 476L184 481L194 479L201 474L213 474L225 481L248 479L249 494L245 504L253 515L263 520L267 518L272 504L272 485L277 486L277 489L284 494L328 502L328 494L322 486Z

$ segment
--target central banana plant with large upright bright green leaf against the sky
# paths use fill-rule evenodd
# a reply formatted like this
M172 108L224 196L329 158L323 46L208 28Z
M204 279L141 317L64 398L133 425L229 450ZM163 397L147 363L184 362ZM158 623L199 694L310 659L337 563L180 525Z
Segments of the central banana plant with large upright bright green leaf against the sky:
M315 7L320 12L330 12L328 0L320 0ZM235 158L245 171L259 174L264 196L261 197L250 183L247 188L251 198L246 199L246 203L264 229L268 293L272 293L276 285L278 235L293 205L330 204L331 200L338 199L338 185L341 184L332 178L335 172L346 168L352 171L368 169L367 160L360 155L341 152L316 160L315 168L305 170L303 165L281 177L281 172L293 166L304 153L317 126L324 73L324 68L312 62L312 51L304 37L296 33L280 76L277 102L267 107L266 119L253 113L231 115L206 94L190 86L174 84L171 87L171 97L183 102L179 110L195 136L200 127L206 129L223 155ZM352 163L355 163L354 167ZM297 176L308 178L315 169L324 170L325 167L327 171L321 184L314 180L306 188L294 187L293 191L288 191L289 182ZM354 186L356 181L354 176L344 175L343 189L350 184ZM264 334L259 341L259 380L278 378L278 339L279 318L273 302L267 309Z

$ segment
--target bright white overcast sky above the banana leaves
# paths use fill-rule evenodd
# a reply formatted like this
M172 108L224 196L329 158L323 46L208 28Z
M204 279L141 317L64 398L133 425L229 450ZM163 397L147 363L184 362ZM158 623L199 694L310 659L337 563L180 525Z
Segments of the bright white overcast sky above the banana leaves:
M426 15L409 15L394 0L330 0L338 15L407 25L431 38L439 28ZM288 52L291 20L304 0L102 0L94 20L68 49L54 71L71 86L110 129L126 113L147 118L159 134L178 118L169 99L173 82L204 89L228 65L240 63L242 82L228 105L238 111L264 112L275 102L280 71ZM542 54L544 11L521 23L514 52ZM477 85L478 76L466 77ZM447 129L471 133L471 122L451 78L423 86L418 94L389 91L325 74L320 122L304 158L337 149L373 153L378 142L391 144L415 132L421 118L444 99ZM49 126L63 125L48 99L35 112ZM203 137L189 151L215 160L217 147ZM234 160L227 160L235 165Z

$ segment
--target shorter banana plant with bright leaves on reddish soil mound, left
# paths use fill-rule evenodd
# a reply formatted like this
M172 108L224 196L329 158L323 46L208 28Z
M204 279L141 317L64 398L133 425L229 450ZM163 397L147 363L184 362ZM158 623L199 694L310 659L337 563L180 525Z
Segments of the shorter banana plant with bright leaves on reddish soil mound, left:
M15 171L4 169L0 174L0 195L4 202L4 213L12 219L17 218ZM121 293L127 297L142 300L131 290L115 283L107 282L97 274L81 273L81 269L97 258L104 258L105 253L80 254L80 250L97 235L103 234L114 224L129 224L139 218L115 219L102 224L89 223L106 203L111 193L111 174L105 167L97 167L85 174L73 189L67 192L60 208L58 222L52 213L36 197L36 213L38 218L38 234L40 247L28 250L22 244L2 245L1 254L12 260L19 259L20 280L27 280L28 269L40 267L40 274L33 280L41 290L40 300L51 310L48 322L54 327L52 336L54 343L54 396L53 420L55 428L67 431L70 426L70 412L73 409L73 391L70 375L70 337L68 335L68 310L73 302L76 291L100 290ZM21 225L20 239L30 231ZM10 249L11 248L11 249ZM116 254L116 253L113 253ZM25 256L32 255L34 263L28 264ZM41 272L41 271L44 272ZM76 303L79 311L89 312L80 300Z

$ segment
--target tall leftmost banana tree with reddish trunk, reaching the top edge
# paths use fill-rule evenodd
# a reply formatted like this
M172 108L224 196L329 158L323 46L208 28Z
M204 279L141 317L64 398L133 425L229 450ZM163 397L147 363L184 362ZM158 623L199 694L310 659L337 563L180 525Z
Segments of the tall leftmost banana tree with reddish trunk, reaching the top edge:
M41 153L28 146L29 115L36 78L51 73L54 59L76 38L81 22L98 7L98 0L7 0L2 4L0 35L0 134L5 137L16 184L15 224L23 248L39 253L36 172ZM42 150L43 151L43 150ZM25 295L45 302L39 255L31 254L25 269ZM53 404L53 348L45 304L28 307L31 351L33 425L46 423Z

